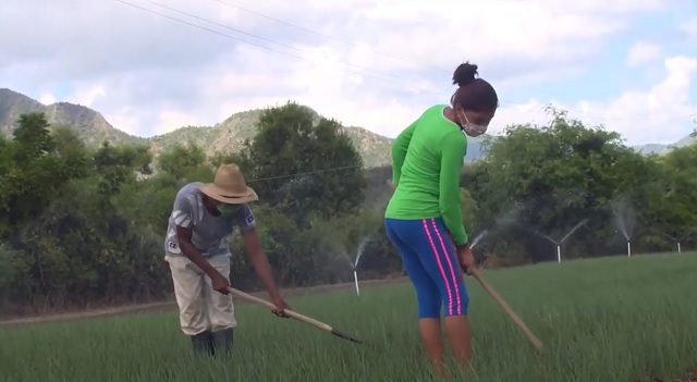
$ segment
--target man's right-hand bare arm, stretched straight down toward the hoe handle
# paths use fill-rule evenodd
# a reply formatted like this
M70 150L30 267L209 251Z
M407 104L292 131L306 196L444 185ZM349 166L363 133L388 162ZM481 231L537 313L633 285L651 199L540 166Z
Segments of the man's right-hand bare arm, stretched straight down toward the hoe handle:
M271 272L271 266L269 260L261 248L259 241L259 234L256 229L256 221L254 213L247 205L243 205L240 211L240 221L237 222L240 231L242 232L242 242L247 250L247 257L254 267L259 280L264 284L264 287L274 301L282 300L281 293L279 292L276 282L273 281L273 273Z

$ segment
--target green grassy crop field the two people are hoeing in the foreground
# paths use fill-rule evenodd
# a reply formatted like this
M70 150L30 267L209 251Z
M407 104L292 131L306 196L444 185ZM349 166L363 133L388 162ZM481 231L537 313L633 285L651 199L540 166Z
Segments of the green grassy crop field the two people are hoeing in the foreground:
M546 343L541 355L474 279L477 375L469 381L674 380L697 366L697 254L646 255L486 272ZM196 359L175 313L1 328L3 382L430 381L411 285L292 299L354 345L264 308L237 306L229 359ZM463 380L457 379L457 380Z

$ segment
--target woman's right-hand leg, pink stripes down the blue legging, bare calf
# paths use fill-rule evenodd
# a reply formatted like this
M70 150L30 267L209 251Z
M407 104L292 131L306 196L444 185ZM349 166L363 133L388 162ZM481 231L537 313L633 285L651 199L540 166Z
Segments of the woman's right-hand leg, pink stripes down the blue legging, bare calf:
M423 230L428 249L419 252L420 259L445 303L445 332L453 355L463 370L469 370L473 359L472 331L467 320L469 295L456 249L442 220L426 219Z

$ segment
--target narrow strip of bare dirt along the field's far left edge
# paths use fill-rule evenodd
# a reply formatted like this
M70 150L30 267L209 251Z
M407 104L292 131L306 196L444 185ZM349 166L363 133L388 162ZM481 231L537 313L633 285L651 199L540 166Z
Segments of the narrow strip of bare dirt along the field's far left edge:
M377 285L398 284L406 280L407 280L406 278L395 278L395 279L388 279L388 280L366 280L360 282L360 287L363 288L363 287L377 286ZM321 294L327 292L345 291L345 289L353 289L353 288L355 288L354 283L343 283L343 284L319 285L319 286L310 286L310 287L286 288L282 291L282 294L285 298L292 298L292 297L316 295L316 294ZM268 298L268 294L266 292L257 292L257 293L250 293L250 294L260 298ZM239 304L248 304L248 303L241 298L235 298L235 304L239 305ZM0 320L0 326L103 318L103 317L114 317L114 316L135 315L135 313L145 313L145 312L158 312L158 311L168 311L173 309L176 309L176 301L172 299L172 300L166 300L166 301L159 301L159 303L127 305L127 306L119 306L119 307L94 309L94 310L82 310L82 311L73 311L73 312L59 313L59 315L44 315L44 316L3 319L3 320Z

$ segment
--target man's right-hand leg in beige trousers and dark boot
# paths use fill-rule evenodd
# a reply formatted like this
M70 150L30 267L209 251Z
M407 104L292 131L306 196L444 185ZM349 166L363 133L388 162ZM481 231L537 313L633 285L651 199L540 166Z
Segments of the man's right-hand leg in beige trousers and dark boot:
M210 258L209 261L210 264L230 282L230 257L216 256ZM206 307L210 320L213 344L218 349L231 352L234 342L234 328L237 325L232 296L225 296L213 291L210 279L205 278L205 280Z

